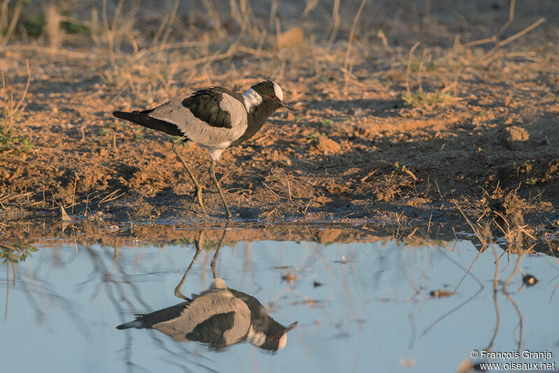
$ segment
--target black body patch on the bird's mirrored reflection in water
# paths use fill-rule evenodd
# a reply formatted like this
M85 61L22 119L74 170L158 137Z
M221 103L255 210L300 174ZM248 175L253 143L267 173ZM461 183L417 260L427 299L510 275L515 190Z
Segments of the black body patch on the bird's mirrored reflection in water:
M215 349L221 349L226 346L224 333L233 328L235 323L235 312L226 312L223 314L215 314L199 323L194 330L187 333L185 337L189 341L196 341L209 344Z

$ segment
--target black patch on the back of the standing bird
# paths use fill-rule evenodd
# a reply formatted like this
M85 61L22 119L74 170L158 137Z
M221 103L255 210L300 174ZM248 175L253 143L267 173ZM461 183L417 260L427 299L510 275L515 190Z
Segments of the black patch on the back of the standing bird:
M194 117L208 123L209 126L231 129L231 114L219 105L223 94L237 100L237 96L241 96L222 87L212 87L194 92L192 96L182 100L182 105L188 108Z

